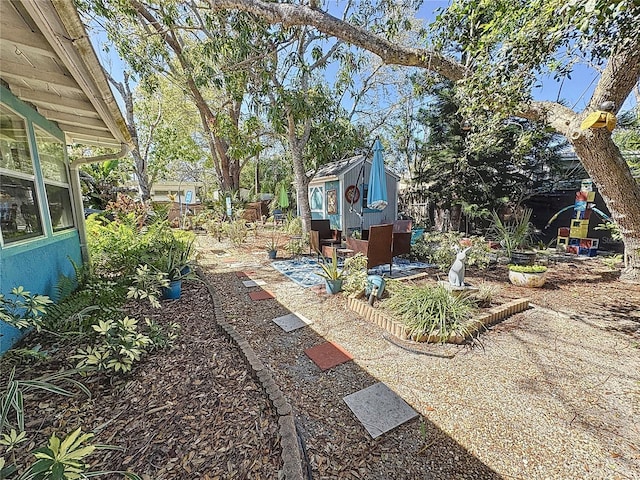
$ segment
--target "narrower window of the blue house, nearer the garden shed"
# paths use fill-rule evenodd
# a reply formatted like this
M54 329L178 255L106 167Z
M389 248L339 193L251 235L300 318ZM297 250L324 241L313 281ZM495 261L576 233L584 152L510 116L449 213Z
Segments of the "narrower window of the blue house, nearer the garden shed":
M54 232L73 228L73 209L64 143L38 128L35 129L35 133L51 226Z

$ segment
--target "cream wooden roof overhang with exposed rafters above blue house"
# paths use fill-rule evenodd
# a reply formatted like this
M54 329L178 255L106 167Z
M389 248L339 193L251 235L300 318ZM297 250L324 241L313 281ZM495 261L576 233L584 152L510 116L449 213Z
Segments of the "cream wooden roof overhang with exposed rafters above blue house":
M131 144L73 0L0 1L0 78L68 144Z

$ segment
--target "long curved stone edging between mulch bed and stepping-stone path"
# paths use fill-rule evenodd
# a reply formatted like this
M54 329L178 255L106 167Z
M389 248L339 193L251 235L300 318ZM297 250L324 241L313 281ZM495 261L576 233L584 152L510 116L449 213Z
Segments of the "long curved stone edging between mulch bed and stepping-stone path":
M240 335L233 326L224 321L225 315L217 302L217 295L211 284L205 280L200 269L197 270L198 276L207 287L209 295L213 300L213 310L215 323L222 329L226 336L234 342L244 358L245 363L250 367L254 378L258 380L262 389L269 397L269 401L278 413L278 425L280 434L280 447L282 448L282 472L285 480L303 480L302 475L302 456L300 454L300 441L296 431L295 420L293 417L293 409L291 404L282 394L282 391L276 385L269 369L260 361L256 353L242 335Z

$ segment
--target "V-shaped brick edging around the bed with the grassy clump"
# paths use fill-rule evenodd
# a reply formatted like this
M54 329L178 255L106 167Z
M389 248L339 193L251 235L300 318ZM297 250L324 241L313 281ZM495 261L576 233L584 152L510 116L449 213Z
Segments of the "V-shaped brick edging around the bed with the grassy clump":
M402 322L399 322L393 318L388 317L380 311L379 309L373 308L367 302L360 300L357 296L351 296L347 299L348 307L354 312L362 315L366 320L375 323L379 327L384 328L387 332L395 335L401 340L409 340L409 335L407 333L407 329ZM447 340L448 343L456 343L461 344L465 341L469 340L473 335L475 335L482 328L493 325L500 320L504 320L505 318L522 312L529 308L529 299L528 298L520 298L517 300L512 300L511 302L504 303L497 307L491 308L486 313L474 317L469 320L467 325L469 334L466 336L455 335L449 337ZM437 338L429 338L425 339L426 341L438 341Z

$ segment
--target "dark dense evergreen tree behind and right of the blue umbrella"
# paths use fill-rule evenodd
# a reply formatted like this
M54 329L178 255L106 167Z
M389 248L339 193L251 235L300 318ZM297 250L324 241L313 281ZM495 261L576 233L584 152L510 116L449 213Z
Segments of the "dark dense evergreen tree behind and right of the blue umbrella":
M417 121L429 133L413 166L413 188L438 209L450 210L454 229L460 228L462 213L517 205L544 187L563 145L555 136L530 122L510 120L496 131L497 141L470 151L470 125L458 113L452 82L437 82L424 93L432 101L419 110Z

